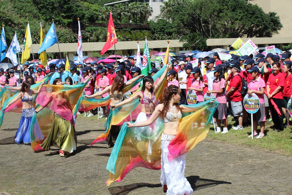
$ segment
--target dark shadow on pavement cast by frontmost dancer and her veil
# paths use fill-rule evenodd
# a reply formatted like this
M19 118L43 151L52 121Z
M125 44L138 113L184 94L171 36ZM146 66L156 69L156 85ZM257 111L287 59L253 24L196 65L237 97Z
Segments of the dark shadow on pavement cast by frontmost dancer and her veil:
M202 179L199 176L189 176L187 177L187 180L190 182L190 185L194 191L199 189L204 189L207 187L213 187L219 184L231 184L231 182L224 182L219 180L208 180L208 179ZM148 183L135 183L135 184L129 184L125 186L117 186L117 187L110 187L108 188L109 193L112 195L126 195L129 192L142 188L142 187L149 187L149 188L161 188L161 192L163 191L161 184L148 184Z

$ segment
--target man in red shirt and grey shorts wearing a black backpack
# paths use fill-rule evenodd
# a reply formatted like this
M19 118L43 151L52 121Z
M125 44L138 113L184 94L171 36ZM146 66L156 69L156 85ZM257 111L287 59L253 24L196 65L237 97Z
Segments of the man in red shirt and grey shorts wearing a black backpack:
M234 62L234 61L233 61ZM227 90L227 96L230 98L231 101L231 109L233 112L233 115L236 116L238 120L238 125L236 127L232 127L234 130L242 130L242 122L243 122L243 113L242 113L242 104L241 101L243 100L241 96L241 87L242 87L242 81L241 77L239 75L241 69L240 69L240 62L236 60L234 63L230 63L231 67L231 80L229 84L229 89Z

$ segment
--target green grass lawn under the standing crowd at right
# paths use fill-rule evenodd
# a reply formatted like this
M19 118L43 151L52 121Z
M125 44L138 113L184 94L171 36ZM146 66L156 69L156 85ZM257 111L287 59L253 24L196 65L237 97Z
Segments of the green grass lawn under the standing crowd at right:
M292 125L286 127L282 132L277 132L270 128L274 125L272 121L270 123L266 122L264 131L265 136L260 139L257 139L256 137L251 139L251 137L248 138L251 134L251 126L246 127L243 130L233 130L232 127L235 122L231 121L231 119L232 117L228 117L228 133L215 134L212 124L207 138L220 140L226 143L250 146L255 150L260 148L278 154L292 156L292 133L290 133ZM223 125L221 125L221 129L223 129ZM260 132L259 130L260 126L258 126L258 133Z

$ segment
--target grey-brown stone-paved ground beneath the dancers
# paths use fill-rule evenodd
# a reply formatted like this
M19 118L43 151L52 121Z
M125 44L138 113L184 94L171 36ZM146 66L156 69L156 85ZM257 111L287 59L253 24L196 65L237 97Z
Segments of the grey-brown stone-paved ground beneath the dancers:
M103 122L77 119L77 152L34 153L15 144L20 114L7 113L0 130L0 192L10 194L164 194L160 171L136 168L109 187L106 170L112 149L90 147ZM292 158L208 139L187 153L185 175L193 194L292 194Z

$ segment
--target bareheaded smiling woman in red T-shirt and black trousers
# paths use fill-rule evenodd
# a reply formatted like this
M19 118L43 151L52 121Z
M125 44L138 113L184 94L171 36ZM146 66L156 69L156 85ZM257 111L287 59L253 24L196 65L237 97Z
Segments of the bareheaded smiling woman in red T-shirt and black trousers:
M270 111L272 115L272 120L274 122L274 130L278 130L278 132L283 131L283 89L284 89L284 81L285 77L281 73L281 64L279 62L274 62L272 64L272 70L274 71L273 74L269 76L267 81L267 97L269 100ZM274 106L272 105L270 100L273 100L276 105L278 106L281 116L278 115L277 111L275 110Z

